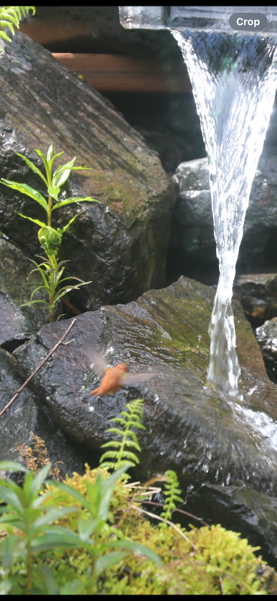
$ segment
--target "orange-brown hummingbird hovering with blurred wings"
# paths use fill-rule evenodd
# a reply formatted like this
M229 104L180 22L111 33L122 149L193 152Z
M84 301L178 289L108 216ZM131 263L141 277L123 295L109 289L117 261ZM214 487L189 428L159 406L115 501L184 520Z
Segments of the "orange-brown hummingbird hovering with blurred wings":
M149 371L148 373L128 373L129 365L125 362L118 363L115 367L107 367L103 356L94 353L94 363L97 367L98 374L103 376L102 382L98 388L95 388L88 394L88 397L100 394L114 394L118 392L122 386L130 386L134 383L146 382L151 377L158 376L158 372Z

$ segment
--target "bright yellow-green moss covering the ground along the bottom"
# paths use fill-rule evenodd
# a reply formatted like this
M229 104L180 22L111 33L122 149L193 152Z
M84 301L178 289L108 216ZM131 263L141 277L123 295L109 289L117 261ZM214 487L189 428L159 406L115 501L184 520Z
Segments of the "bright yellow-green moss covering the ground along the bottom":
M94 484L98 469L86 474L74 474L67 478L67 484L74 486L86 495L85 480ZM103 475L108 472L103 470ZM48 486L49 491L52 486ZM267 566L261 558L254 555L256 549L242 540L239 534L227 531L220 525L185 531L188 540L182 537L173 526L165 529L152 525L137 508L140 504L130 499L132 489L119 482L113 495L110 522L103 528L104 540L128 537L155 551L164 563L159 569L143 557L130 554L115 566L107 569L98 581L98 593L121 595L239 595L267 594L261 576ZM72 507L72 497L53 487L54 498L58 496L59 505ZM76 504L76 513L68 514L60 520L60 525L76 529L77 519L86 519L86 510ZM137 507L137 508L136 508ZM191 544L192 543L192 544ZM193 546L192 546L193 545ZM55 569L58 585L68 579L82 578L89 566L89 557L83 551L57 552L50 561ZM276 581L276 575L270 570L270 578ZM268 581L268 578L267 578ZM276 593L276 590L275 590ZM273 593L274 594L274 593Z

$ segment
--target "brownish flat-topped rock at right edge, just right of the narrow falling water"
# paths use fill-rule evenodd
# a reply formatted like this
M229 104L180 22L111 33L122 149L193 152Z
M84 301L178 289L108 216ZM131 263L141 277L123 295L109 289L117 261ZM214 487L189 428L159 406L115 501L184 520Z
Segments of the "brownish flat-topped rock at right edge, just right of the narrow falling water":
M233 296L241 302L243 311L250 319L271 319L277 315L276 273L237 276Z

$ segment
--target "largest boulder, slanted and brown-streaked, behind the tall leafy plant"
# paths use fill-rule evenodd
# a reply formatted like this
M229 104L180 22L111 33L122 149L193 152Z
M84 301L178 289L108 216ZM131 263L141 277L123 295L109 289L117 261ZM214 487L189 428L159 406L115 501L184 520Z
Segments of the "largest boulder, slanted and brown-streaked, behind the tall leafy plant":
M73 294L73 304L128 302L161 287L174 190L156 153L108 100L26 35L17 33L1 53L0 82L2 177L44 193L40 177L15 151L41 167L34 148L45 152L51 142L56 152L65 151L60 164L77 156L76 165L91 169L73 172L66 193L102 204L71 204L53 219L58 227L78 215L59 258L70 259L68 273L92 284L76 293L77 301ZM17 212L37 219L45 212L30 198L0 188L1 230L24 252L40 254L37 227Z

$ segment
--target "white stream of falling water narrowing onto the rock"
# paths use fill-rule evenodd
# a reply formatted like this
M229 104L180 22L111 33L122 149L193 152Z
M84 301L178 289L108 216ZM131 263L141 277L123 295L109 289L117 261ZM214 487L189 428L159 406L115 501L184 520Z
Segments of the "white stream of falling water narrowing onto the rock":
M210 320L208 385L236 396L231 299L252 181L277 87L277 36L173 31L191 79L209 161L219 281Z

